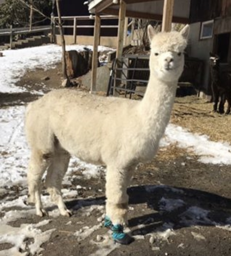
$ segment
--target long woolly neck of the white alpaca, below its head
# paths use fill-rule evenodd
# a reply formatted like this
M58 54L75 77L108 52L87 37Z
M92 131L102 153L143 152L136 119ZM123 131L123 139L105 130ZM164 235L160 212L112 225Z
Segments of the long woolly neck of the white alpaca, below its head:
M163 135L170 119L176 87L177 81L164 82L150 75L146 93L140 102L141 120L149 136Z

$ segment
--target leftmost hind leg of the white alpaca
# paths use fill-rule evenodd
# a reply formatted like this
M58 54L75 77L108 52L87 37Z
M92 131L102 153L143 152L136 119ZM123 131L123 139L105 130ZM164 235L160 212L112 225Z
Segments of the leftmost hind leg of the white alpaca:
M34 203L36 214L40 217L47 215L41 201L41 179L43 173L49 166L49 158L39 151L32 151L27 173L28 182L28 203Z

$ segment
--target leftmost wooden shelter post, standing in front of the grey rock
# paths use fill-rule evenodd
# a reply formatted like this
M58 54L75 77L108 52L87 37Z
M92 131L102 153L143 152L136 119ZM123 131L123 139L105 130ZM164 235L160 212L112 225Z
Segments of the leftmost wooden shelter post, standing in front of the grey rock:
M91 70L91 91L90 93L96 93L96 75L98 68L98 46L100 38L100 16L95 14L95 27L94 27L94 45L92 56L92 70Z

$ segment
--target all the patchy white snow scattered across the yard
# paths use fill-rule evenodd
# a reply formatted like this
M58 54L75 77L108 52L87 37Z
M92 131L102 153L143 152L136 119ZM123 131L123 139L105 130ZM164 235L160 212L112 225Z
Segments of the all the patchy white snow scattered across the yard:
M84 46L85 47L85 46ZM91 46L87 46L92 48ZM77 51L83 49L80 45L67 46L67 50L75 49ZM108 50L106 47L99 47L100 51ZM0 58L0 93L21 93L26 89L19 89L15 83L20 80L26 70L35 68L54 68L55 64L61 59L61 47L57 45L46 45L41 47L33 47L19 50L3 51L3 57ZM41 93L41 92L37 92ZM10 249L0 251L0 256L4 255L27 255L25 250L30 251L30 255L37 254L41 251L41 244L48 241L54 229L48 229L44 232L39 229L40 226L46 226L49 221L41 221L37 224L22 224L20 227L12 227L9 223L18 219L26 219L35 213L34 207L26 206L24 200L27 194L26 185L26 168L30 155L29 148L26 144L24 135L24 113L26 105L22 102L20 106L11 106L0 109L0 196L4 196L4 200L0 203L0 212L5 213L0 218L0 244L10 243ZM227 142L214 142L207 135L198 135L189 132L188 130L169 124L164 138L161 140L160 147L165 147L170 144L177 143L178 147L193 151L198 155L198 161L210 164L231 164L231 145ZM182 163L183 165L183 163ZM82 176L71 176L74 171L79 171ZM89 179L97 177L104 168L92 164L81 162L77 158L72 158L63 184L71 185L71 180L75 178ZM10 198L14 193L12 188L18 186L19 196ZM176 195L184 194L183 190L170 188L165 185L146 186L146 192L152 193L156 189L164 189L166 192L172 191ZM63 195L67 200L78 196L78 189L82 188L78 185L75 188L63 189ZM89 188L90 189L90 188ZM51 203L47 195L42 196L45 207ZM91 215L92 211L97 209L102 213L102 217L98 218L99 222L103 220L104 201L98 200L78 200L78 204L74 209L83 210L83 216ZM171 199L162 197L159 202L160 211L172 212L179 207L185 206L183 200ZM7 208L18 207L18 210L7 211ZM201 209L197 206L189 207L180 216L180 222L183 225L198 225L207 224L220 227L219 224L212 222L208 218L209 211ZM58 217L57 209L50 213L50 217ZM231 217L227 219L227 230L230 230ZM229 224L229 225L228 225ZM77 241L81 241L92 235L97 229L100 229L102 223L97 225L86 226L82 230L77 230ZM172 230L171 223L164 223L160 229L149 234L151 240L162 239L168 241L168 237L176 235ZM26 238L34 238L34 242L30 245L25 244ZM136 239L143 239L143 235L136 236ZM102 240L102 241L101 241ZM108 255L115 250L119 245L111 241L110 234L102 236L100 241L91 240L98 248L94 255ZM152 241L152 242L153 242ZM28 248L26 248L26 246ZM152 247L157 250L159 247ZM22 251L22 252L21 252ZM24 251L24 252L23 252Z

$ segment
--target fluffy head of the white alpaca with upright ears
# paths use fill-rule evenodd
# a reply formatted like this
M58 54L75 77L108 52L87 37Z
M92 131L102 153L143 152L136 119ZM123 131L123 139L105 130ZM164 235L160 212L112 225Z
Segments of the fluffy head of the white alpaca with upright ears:
M180 32L156 33L148 26L150 39L150 72L152 76L166 82L178 81L184 68L184 49L187 45L189 26Z

